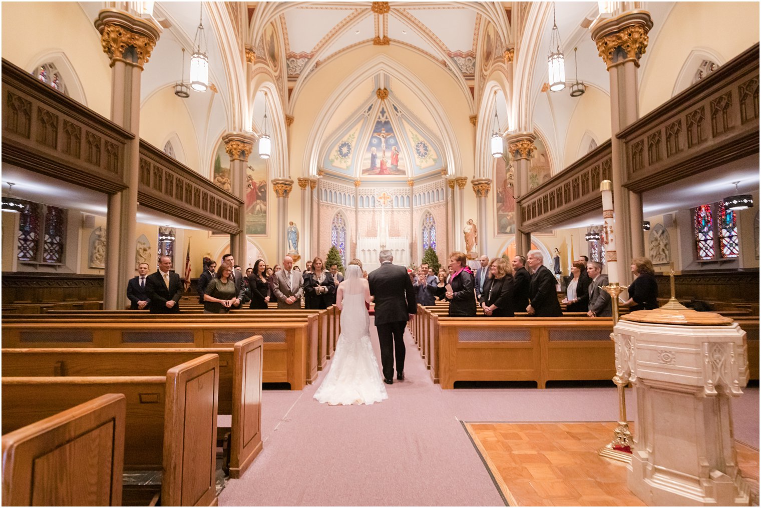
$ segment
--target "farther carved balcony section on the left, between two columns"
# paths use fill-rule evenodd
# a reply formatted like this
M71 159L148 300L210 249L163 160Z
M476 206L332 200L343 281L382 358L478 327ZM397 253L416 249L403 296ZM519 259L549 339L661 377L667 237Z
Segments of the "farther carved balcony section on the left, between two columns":
M219 233L240 233L239 198L142 139L138 201Z

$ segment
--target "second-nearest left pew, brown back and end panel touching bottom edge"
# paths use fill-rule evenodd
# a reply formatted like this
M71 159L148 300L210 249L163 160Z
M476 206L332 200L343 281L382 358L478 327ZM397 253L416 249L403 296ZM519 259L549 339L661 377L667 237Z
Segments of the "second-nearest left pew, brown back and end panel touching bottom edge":
M216 506L219 363L205 354L165 376L4 377L2 433L106 393L126 398L125 470L160 469L164 506Z

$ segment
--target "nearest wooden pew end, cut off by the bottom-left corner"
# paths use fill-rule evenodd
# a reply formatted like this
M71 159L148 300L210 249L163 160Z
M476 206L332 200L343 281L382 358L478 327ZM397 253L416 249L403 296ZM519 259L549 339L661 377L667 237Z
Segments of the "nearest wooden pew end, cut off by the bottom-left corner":
M126 398L100 395L2 437L6 506L121 506Z

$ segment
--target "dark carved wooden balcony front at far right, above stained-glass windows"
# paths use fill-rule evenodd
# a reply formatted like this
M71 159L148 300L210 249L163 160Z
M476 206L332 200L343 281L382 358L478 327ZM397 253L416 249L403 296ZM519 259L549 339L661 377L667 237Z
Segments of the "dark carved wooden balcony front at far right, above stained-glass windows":
M619 132L624 186L644 192L759 152L759 45Z

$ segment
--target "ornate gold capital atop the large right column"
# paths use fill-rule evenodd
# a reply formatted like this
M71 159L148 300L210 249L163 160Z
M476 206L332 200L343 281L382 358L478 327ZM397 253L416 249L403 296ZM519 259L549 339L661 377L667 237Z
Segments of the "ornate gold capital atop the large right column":
M593 24L592 40L607 68L626 62L634 62L639 67L639 59L648 47L648 32L652 27L653 21L648 11L627 11Z

